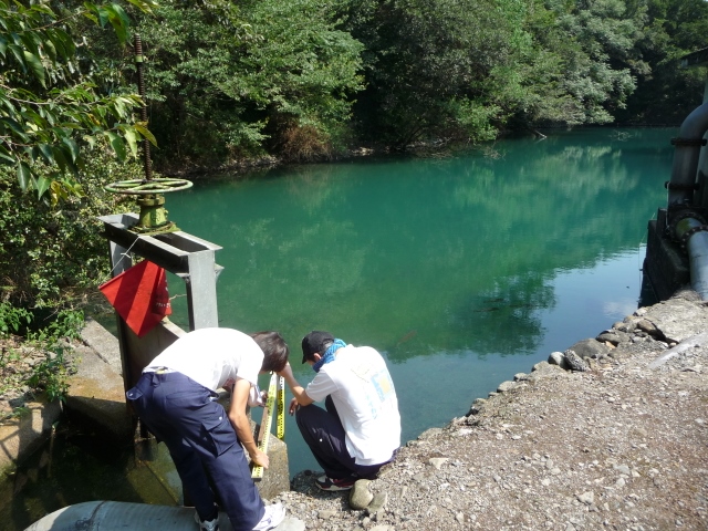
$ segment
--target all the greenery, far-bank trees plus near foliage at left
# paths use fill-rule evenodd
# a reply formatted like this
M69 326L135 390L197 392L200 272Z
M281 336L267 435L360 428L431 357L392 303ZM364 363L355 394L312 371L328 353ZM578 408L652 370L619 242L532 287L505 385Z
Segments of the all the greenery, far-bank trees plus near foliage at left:
M0 302L95 283L102 186L142 175L142 142L169 174L677 125L707 30L705 0L0 0Z

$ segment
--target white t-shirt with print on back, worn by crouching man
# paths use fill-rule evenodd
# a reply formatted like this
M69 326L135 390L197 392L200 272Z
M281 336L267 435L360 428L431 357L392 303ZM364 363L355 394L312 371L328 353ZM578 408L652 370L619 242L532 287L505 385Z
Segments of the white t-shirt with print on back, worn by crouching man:
M332 395L357 465L378 465L400 446L400 415L386 362L369 346L347 345L323 365L306 388L315 402Z

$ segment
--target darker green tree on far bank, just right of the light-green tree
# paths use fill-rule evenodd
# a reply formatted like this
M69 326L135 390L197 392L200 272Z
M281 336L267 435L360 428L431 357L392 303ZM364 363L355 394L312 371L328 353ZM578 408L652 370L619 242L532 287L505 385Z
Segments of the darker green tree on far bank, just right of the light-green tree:
M489 81L519 39L508 2L371 0L341 7L344 28L366 50L360 132L394 147L431 137L493 137L501 108ZM493 28L493 31L490 29ZM509 71L508 71L509 72Z

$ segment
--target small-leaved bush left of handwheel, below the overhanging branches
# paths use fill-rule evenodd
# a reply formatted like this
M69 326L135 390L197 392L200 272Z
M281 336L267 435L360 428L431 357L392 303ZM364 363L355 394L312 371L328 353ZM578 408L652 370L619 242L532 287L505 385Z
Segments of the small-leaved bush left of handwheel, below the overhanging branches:
M14 175L0 167L0 301L67 308L107 280L107 247L96 217L125 211L128 205L103 186L140 173L137 163L121 164L95 148L80 174L84 195L54 208L22 192Z

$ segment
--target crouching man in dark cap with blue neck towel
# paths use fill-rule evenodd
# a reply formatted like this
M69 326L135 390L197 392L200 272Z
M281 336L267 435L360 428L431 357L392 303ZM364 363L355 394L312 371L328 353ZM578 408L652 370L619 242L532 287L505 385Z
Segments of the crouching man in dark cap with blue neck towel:
M325 475L322 490L348 490L374 478L400 446L398 399L386 362L369 346L353 346L327 332L302 340L302 363L317 373L303 388L287 364L279 372L294 398L290 414ZM325 409L312 405L324 400Z

